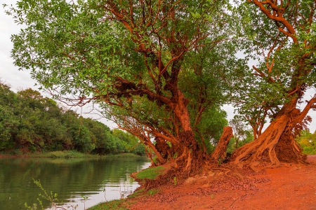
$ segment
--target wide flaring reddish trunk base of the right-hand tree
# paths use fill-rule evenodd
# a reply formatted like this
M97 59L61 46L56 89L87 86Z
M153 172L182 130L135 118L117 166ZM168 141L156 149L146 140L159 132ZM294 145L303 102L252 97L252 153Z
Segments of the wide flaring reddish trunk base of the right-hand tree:
M256 160L270 161L272 165L279 165L279 160L284 161L284 157L287 157L286 162L304 161L304 155L301 155L301 149L296 144L291 130L298 123L296 119L301 119L307 112L305 110L301 113L298 111L299 114L297 114L296 103L297 98L284 104L275 120L258 139L242 146L233 153L232 158L235 158L236 165L239 162Z

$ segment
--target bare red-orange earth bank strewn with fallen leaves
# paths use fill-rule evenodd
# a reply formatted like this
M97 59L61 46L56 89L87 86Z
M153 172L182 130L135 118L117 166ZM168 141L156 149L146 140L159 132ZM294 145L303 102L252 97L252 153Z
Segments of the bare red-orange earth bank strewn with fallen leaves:
M138 190L125 200L89 210L316 209L316 155L308 155L308 163L258 167L257 173L235 171L228 176L223 176L223 170L212 170L184 183Z

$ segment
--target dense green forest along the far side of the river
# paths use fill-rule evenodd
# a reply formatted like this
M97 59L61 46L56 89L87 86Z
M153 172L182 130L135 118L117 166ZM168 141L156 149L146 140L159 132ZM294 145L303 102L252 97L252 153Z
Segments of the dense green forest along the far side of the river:
M65 150L145 155L145 147L137 137L83 118L36 90L15 93L0 81L0 153Z

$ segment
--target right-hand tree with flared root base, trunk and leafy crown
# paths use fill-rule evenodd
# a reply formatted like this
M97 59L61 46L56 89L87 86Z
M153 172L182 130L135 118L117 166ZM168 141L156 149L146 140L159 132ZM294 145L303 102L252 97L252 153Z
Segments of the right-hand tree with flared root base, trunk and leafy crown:
M306 90L315 87L315 1L258 1L239 3L244 52L258 64L235 80L239 110L271 123L258 138L235 151L235 163L268 160L303 162L305 157L294 141L295 127L308 123L316 97L303 102ZM235 89L236 90L236 89ZM238 100L239 98L239 100ZM242 102L242 103L238 103ZM305 122L304 122L305 119ZM255 120L256 121L256 120ZM259 122L257 120L257 122Z

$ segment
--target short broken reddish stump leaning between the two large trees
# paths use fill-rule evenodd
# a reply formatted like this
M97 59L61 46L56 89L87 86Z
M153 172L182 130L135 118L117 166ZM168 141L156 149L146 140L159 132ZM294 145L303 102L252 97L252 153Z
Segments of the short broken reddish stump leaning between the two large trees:
M232 127L224 127L223 134L220 137L218 144L215 148L215 151L211 154L211 158L216 160L216 162L221 163L226 157L226 149L230 143L230 139L234 137L232 134Z

